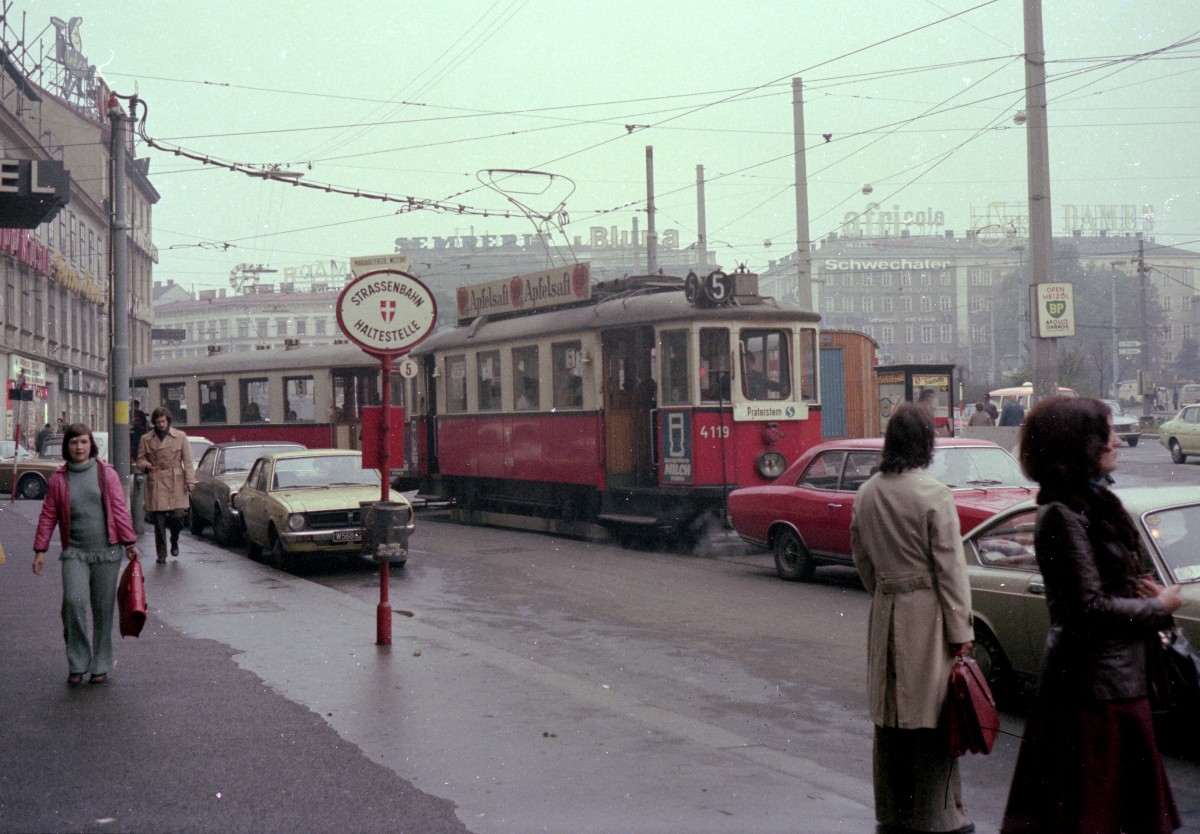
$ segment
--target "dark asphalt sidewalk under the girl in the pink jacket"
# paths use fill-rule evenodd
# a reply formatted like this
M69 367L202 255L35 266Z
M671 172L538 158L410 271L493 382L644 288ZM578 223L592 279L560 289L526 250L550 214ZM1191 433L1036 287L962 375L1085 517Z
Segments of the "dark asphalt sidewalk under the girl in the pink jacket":
M106 684L68 688L56 535L44 575L30 570L40 509L0 502L0 832L467 830L454 803L371 761L322 714L239 666L229 646L156 617L155 594L170 580L154 571L152 535L140 542L145 630L114 635ZM208 548L187 536L181 545L180 563ZM161 570L172 568L187 565ZM307 613L298 607L293 619ZM284 629L305 637L296 622Z

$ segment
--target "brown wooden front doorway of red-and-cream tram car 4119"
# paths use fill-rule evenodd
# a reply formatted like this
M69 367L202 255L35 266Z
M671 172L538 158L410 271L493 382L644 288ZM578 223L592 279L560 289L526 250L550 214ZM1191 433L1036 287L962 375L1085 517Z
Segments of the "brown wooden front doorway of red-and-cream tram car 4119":
M654 467L654 328L606 330L605 467L612 486L650 486Z

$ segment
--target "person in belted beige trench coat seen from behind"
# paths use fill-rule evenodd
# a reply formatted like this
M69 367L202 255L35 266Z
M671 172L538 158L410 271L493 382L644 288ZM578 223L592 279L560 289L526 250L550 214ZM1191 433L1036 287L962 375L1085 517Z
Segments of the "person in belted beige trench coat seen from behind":
M878 832L971 832L958 758L937 730L956 655L971 652L971 588L949 487L928 473L929 409L888 420L880 472L854 499L851 542L868 593L866 685Z

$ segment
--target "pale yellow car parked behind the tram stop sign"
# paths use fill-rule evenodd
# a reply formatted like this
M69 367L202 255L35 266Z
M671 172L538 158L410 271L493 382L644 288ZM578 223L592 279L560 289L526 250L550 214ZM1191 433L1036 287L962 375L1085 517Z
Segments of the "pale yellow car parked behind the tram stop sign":
M265 552L280 568L301 558L358 557L365 510L382 500L380 491L379 472L364 469L358 451L305 449L263 455L235 499L246 550L253 559ZM413 508L402 493L389 490L389 494L401 509L396 521L407 545Z

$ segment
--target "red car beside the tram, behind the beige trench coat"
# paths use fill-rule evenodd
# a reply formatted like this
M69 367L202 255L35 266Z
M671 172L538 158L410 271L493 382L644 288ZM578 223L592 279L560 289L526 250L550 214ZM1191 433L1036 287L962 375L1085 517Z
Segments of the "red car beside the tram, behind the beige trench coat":
M1032 498L1037 485L1004 449L988 440L937 438L929 474L954 491L964 533ZM730 520L745 541L775 554L785 580L809 580L817 565L852 565L854 492L880 466L883 438L822 443L774 482L730 493Z

